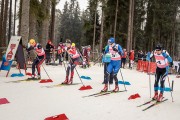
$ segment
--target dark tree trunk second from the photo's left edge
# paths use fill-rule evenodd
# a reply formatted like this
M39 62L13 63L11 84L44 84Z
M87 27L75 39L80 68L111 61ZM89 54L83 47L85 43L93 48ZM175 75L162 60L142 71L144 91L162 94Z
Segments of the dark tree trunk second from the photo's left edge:
M6 46L6 28L7 28L7 20L8 20L8 5L9 0L5 0L5 8L4 8L4 20L3 20L3 34L2 34L2 46Z

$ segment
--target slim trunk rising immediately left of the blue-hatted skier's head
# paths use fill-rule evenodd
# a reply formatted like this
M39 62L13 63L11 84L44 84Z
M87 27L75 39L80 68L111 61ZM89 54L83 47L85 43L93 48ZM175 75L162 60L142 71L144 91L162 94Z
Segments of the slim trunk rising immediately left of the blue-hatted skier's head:
M102 5L103 6L103 5ZM102 7L102 16L101 16L101 35L100 35L100 52L102 51L103 44L103 36L104 36L104 9Z

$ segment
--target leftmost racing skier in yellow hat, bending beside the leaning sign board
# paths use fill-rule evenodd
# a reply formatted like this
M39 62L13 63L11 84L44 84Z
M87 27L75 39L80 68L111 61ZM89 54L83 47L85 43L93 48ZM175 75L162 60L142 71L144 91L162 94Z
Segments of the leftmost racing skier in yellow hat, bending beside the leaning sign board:
M46 55L45 51L41 44L36 43L34 39L30 39L27 51L34 50L34 53L37 55L32 63L32 79L35 78L35 67L37 68L37 79L41 79L41 71L40 71L40 65L44 62Z

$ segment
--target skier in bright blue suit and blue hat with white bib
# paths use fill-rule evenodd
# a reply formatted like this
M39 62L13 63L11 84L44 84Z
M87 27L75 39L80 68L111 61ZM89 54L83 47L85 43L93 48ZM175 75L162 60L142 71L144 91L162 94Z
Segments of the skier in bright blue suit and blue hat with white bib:
M108 81L110 80L110 74L113 72L113 78L115 80L115 89L113 92L119 91L118 86L118 79L117 79L117 73L121 67L121 56L123 56L123 50L122 47L119 44L115 43L114 38L110 38L108 40L108 46L105 49L105 54L111 55L111 61L107 66L106 71L106 79L105 79L105 85L104 88L101 90L101 92L106 92L108 90Z

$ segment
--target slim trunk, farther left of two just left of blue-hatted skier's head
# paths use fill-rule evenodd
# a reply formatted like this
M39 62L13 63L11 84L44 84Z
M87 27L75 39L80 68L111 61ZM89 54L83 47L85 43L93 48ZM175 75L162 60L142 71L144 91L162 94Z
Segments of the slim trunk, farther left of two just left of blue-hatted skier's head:
M94 18L94 34L93 34L93 60L95 58L94 52L95 52L95 40L96 40L96 17L97 17L96 11L97 11L97 2L96 2L95 11L94 11L95 18Z

